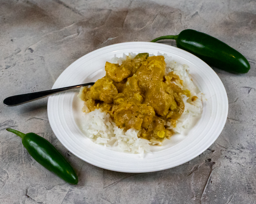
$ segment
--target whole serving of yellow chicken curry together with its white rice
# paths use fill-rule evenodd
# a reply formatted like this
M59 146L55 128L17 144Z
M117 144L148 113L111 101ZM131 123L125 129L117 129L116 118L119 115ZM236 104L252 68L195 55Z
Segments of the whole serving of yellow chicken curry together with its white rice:
M182 131L184 112L185 117L201 113L201 96L186 65L148 53L114 61L106 62L105 77L82 87L78 95L86 112L84 132L96 143L147 152L148 144L162 145Z

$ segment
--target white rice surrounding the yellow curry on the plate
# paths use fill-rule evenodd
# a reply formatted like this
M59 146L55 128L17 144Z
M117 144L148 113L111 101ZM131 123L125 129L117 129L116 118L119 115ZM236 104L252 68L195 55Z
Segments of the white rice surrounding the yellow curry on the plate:
M172 129L176 133L184 133L185 130L189 130L194 123L194 118L201 115L202 112L202 93L198 91L196 86L193 84L191 77L189 76L189 69L186 64L180 64L171 60L171 57L166 54L161 54L158 52L157 55L163 55L166 63L166 73L171 71L178 75L181 80L183 80L183 85L179 85L182 89L188 89L191 96L197 96L193 102L188 103L188 97L182 95L185 104L185 110L181 117L177 120L176 127L173 128L170 122L166 123L168 129ZM130 53L129 57L134 58L136 54ZM153 55L149 55L153 56ZM111 63L122 64L122 61L126 59L126 55L123 58L117 58L116 56L111 59ZM82 88L81 88L82 90ZM82 91L78 97L81 96ZM87 107L85 107L86 110ZM87 111L88 112L88 108ZM118 128L116 123L110 118L110 115L106 112L101 112L100 109L95 109L90 113L85 113L83 130L87 137L94 140L97 144L102 144L104 146L117 146L120 151L128 151L131 153L143 154L145 152L150 152L150 144L162 145L159 141L148 141L138 137L139 130L129 129L124 131L124 128Z

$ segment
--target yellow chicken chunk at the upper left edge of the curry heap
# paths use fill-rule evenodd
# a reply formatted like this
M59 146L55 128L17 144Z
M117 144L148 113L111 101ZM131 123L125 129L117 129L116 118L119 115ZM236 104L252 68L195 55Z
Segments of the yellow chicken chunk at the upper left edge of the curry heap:
M119 64L106 62L105 70L108 77L115 82L121 82L131 74L131 71L127 67L124 67L123 64L119 66Z

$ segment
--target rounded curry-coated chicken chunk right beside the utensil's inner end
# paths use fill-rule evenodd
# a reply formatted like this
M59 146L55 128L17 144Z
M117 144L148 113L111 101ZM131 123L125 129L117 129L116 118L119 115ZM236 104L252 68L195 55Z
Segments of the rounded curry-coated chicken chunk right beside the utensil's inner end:
M113 97L117 93L115 85L106 77L97 80L90 89L90 95L93 100L100 100L106 103L112 103Z

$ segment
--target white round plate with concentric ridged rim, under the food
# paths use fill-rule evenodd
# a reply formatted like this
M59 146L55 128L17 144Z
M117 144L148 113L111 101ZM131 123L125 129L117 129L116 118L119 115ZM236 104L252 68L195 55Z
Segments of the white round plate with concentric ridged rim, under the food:
M116 54L129 52L157 55L166 53L187 64L194 84L205 94L203 113L188 135L178 135L163 147L153 147L152 154L118 152L95 144L81 129L83 103L79 90L63 92L48 99L48 118L60 142L74 155L95 166L122 172L159 171L184 164L204 152L220 135L228 115L228 97L217 74L205 62L184 50L152 42L126 42L100 48L84 55L65 69L52 89L95 82L105 75L104 66Z

